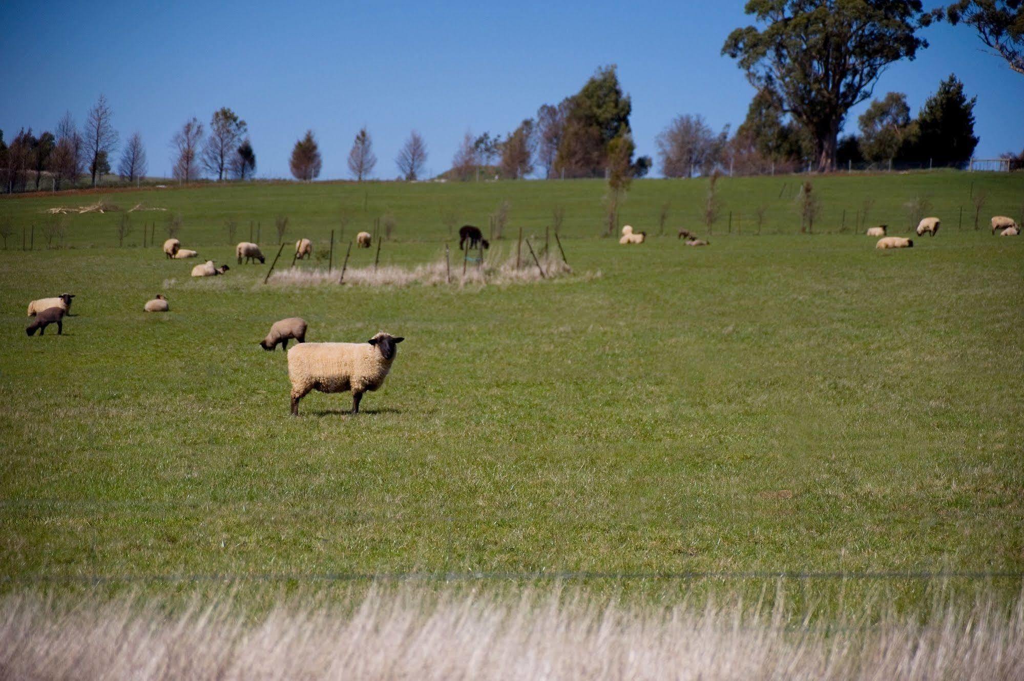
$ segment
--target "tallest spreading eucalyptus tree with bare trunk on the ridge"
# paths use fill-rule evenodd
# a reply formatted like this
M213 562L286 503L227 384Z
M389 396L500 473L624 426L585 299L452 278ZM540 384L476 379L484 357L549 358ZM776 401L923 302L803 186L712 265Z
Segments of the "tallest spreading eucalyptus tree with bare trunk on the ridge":
M928 47L916 31L932 20L921 0L749 0L744 11L767 26L736 29L722 53L807 129L821 172L836 167L847 112L890 63Z

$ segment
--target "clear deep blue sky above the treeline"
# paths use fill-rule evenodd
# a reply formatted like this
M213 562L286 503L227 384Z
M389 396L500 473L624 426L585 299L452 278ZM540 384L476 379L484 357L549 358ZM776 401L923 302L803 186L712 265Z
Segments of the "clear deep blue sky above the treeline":
M367 125L376 176L392 178L413 128L426 139L428 170L442 172L466 130L508 132L616 63L638 153L654 157L655 135L678 114L716 129L742 121L753 89L720 51L751 23L743 4L6 0L0 129L7 140L23 126L52 129L66 111L81 124L102 92L121 139L139 131L150 173L168 174L174 131L226 105L249 123L259 176L287 176L292 145L311 128L321 178L347 177L352 137ZM876 95L905 92L916 112L955 73L978 96L977 155L1024 148L1024 76L983 52L968 28L923 35L931 47L890 67Z

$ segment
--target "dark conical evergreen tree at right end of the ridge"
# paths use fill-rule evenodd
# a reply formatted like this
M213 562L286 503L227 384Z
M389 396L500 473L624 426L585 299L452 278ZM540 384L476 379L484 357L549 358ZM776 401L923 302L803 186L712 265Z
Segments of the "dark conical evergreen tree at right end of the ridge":
M959 165L968 162L978 145L974 134L974 107L956 76L939 83L939 90L925 101L916 119L916 140L909 156L921 163Z

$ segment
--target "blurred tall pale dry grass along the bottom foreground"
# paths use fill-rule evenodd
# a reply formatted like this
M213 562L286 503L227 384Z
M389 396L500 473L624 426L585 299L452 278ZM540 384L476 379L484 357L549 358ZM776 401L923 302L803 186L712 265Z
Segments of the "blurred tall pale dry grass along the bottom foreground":
M4 679L1021 679L1024 608L786 622L781 610L582 596L371 592L246 621L229 598L162 614L121 600L0 600ZM925 622L926 624L915 624Z

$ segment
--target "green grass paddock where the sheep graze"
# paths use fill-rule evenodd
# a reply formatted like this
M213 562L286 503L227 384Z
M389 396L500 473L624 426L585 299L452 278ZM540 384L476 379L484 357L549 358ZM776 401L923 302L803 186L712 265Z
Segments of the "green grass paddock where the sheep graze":
M815 179L815 232L830 233L813 236L798 233L799 181L722 180L707 249L598 238L597 181L103 195L180 213L182 244L231 266L196 281L197 260L137 247L145 220L166 238L167 213L133 213L125 248L120 213L65 216L67 248L38 250L43 210L97 196L0 201L16 232L0 251L2 588L214 572L1024 570L1024 242L985 228L993 214L1021 219L1024 176ZM621 220L656 235L670 203L667 233L708 236L706 190L637 181ZM934 239L879 252L855 233L868 200L868 224L905 233L918 197L943 219ZM390 211L381 262L414 264L442 257L443 209L486 225L503 200L511 222L492 250L511 252L520 226L539 245L561 205L574 275L263 287L269 260L236 265L223 226L234 218L242 241L259 221L272 255L273 218L288 215L286 239L319 252L343 211L343 242ZM32 224L37 250L15 249ZM350 266L373 256L353 251ZM78 297L65 336L27 338L28 302L66 290ZM143 313L160 292L172 311ZM312 393L289 417L286 357L257 342L291 315L310 341L407 338L365 413Z

